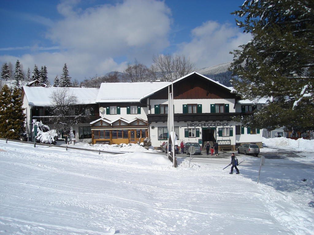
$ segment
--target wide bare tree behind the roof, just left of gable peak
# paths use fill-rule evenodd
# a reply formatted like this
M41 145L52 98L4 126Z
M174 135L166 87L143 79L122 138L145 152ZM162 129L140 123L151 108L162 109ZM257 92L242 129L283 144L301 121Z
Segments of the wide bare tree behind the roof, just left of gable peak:
M151 70L160 75L162 81L174 81L193 72L195 65L185 55L158 55L153 56Z

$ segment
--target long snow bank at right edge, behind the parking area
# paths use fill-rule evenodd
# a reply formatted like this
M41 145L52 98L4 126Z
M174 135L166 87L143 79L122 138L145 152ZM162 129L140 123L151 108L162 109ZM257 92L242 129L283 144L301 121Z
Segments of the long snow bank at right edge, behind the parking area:
M279 138L264 138L263 137L263 144L266 147L280 147L281 149L292 149L295 151L307 151L307 152L314 152L314 139L303 139L299 138L289 139L285 137Z

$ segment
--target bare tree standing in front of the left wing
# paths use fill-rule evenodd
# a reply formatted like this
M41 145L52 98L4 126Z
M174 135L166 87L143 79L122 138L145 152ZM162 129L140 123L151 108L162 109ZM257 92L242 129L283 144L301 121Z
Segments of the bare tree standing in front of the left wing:
M51 93L51 111L57 117L54 125L65 134L69 134L70 128L77 124L83 117L75 113L78 98L70 90L71 88L58 88Z

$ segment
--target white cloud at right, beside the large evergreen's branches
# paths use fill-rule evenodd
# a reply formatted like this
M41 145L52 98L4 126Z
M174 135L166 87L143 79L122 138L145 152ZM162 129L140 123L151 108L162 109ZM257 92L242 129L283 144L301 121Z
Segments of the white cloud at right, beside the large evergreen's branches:
M207 21L192 30L192 40L179 45L178 54L184 54L198 68L209 67L231 61L229 54L252 39L251 34L243 34L230 24Z

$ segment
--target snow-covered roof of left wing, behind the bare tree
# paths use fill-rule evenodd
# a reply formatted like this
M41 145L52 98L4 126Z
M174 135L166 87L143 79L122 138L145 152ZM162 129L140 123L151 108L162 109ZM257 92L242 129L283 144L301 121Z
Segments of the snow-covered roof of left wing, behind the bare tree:
M78 98L78 104L95 104L98 88L23 86L29 105L51 106L51 94L60 89L69 89Z

